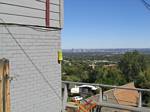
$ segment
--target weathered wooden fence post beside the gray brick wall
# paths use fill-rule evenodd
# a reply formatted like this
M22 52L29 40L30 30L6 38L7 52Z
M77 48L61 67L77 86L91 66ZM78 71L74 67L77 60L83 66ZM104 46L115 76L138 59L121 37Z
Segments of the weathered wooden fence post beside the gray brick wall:
M0 112L10 112L9 61L0 60Z

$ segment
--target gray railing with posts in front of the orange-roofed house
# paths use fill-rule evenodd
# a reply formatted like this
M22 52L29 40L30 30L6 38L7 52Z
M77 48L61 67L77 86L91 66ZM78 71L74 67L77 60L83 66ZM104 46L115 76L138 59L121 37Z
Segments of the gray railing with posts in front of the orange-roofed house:
M134 112L150 112L150 108L142 107L142 93L148 92L150 93L150 89L141 89L141 88L128 88L123 86L114 86L114 85L106 85L106 84L94 84L94 83L82 83L82 82L71 82L71 81L62 81L62 84L65 86L65 92L67 91L67 85L92 85L99 87L99 101L97 102L97 105L100 107L107 107L107 108L114 108L114 109L120 109L120 110L128 110L128 111L134 111ZM139 99L138 99L138 106L132 107L132 106L126 106L126 105L120 105L120 104L113 104L113 103L106 103L103 101L103 88L111 88L111 89L123 89L123 90L133 90L137 91L139 93ZM68 94L68 93L66 93ZM67 97L64 97L63 100L67 99ZM67 102L66 102L67 103ZM66 104L63 103L63 106Z

